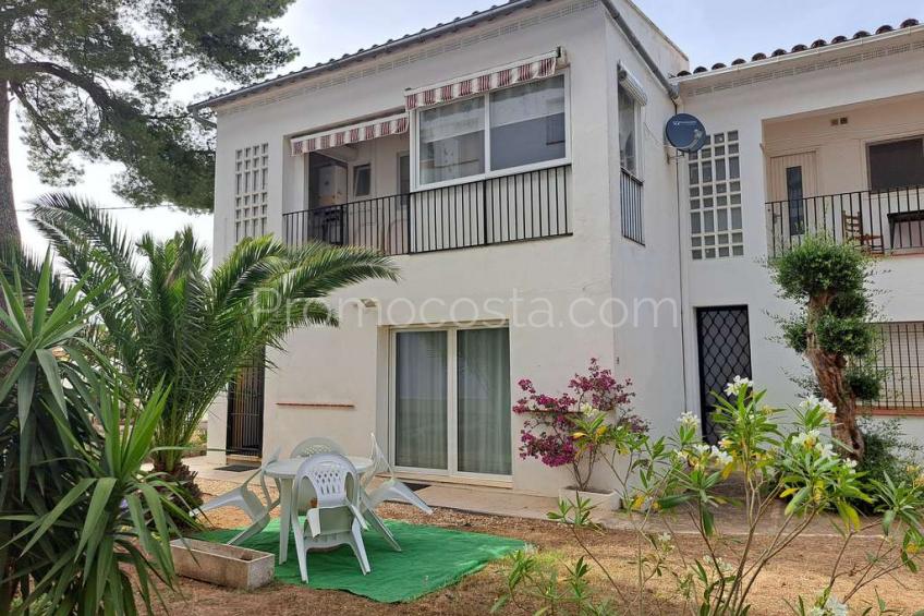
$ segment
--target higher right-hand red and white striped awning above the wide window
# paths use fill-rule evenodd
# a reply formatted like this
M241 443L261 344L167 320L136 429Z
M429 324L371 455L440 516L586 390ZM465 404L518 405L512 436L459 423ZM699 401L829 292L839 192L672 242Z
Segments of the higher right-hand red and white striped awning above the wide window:
M550 77L563 65L564 52L558 48L503 67L408 89L404 93L404 107L409 110L420 109L510 85Z

